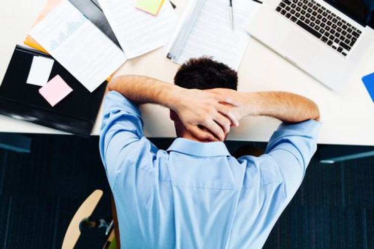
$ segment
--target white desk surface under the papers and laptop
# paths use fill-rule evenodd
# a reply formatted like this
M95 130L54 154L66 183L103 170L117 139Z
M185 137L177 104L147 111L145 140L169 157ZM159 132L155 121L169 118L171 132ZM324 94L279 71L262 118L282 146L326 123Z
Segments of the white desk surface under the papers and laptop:
M180 16L188 1L174 0ZM3 1L0 8L0 80L3 79L16 44L22 44L32 23L46 0ZM323 127L320 144L374 145L374 103L371 101L361 77L374 72L374 42L367 50L351 83L335 93L310 78L301 70L251 40L239 69L239 91L289 91L304 95L318 103ZM119 74L139 74L173 82L178 65L165 58L163 49L127 61ZM142 108L145 135L149 137L174 137L174 127L167 109L155 105ZM92 134L98 134L98 120ZM245 118L240 127L233 129L230 140L268 141L279 122L270 118ZM63 132L24 121L0 116L0 132L51 133Z

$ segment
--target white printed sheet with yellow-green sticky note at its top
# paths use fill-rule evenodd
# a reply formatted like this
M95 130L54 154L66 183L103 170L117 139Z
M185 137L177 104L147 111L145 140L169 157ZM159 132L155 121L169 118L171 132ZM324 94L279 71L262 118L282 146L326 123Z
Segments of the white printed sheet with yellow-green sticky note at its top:
M156 16L135 8L136 0L99 0L99 4L128 58L165 45L175 26L175 13L167 1Z

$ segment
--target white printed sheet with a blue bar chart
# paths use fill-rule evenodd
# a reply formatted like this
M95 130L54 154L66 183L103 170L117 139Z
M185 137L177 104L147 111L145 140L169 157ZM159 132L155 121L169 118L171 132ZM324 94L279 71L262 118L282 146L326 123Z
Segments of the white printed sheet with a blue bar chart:
M123 52L67 0L29 34L90 92L126 61Z

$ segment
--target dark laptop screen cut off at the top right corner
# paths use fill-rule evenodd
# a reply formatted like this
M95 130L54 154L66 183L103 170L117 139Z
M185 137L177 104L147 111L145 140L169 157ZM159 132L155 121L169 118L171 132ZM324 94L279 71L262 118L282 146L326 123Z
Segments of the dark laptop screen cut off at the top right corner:
M374 28L374 0L324 0L363 26Z

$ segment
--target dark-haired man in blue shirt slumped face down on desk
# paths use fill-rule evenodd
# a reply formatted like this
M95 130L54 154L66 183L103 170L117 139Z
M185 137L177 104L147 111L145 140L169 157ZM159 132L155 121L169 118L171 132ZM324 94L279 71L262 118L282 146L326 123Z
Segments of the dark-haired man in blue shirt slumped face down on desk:
M108 84L100 151L122 246L261 248L316 151L317 105L292 93L237 92L236 72L209 58L186 62L174 81ZM167 151L144 137L142 103L171 110L178 138ZM266 154L235 159L222 141L245 116L284 123Z

